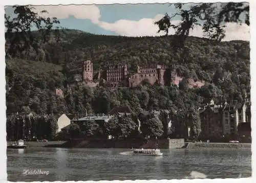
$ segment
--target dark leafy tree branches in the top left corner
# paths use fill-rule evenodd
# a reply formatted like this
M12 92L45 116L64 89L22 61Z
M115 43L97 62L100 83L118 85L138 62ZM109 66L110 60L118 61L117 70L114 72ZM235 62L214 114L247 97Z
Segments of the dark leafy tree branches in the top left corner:
M13 6L15 17L11 18L5 14L5 38L7 55L14 57L30 48L39 51L40 43L50 39L50 30L53 25L59 23L56 18L44 18L33 11L31 6ZM40 13L47 13L42 11ZM32 28L36 28L40 35L32 34Z

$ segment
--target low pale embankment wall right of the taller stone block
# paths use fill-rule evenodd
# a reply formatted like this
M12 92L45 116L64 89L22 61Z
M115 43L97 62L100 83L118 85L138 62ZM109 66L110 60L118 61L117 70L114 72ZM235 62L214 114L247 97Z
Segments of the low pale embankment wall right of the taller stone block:
M187 149L251 149L250 143L185 143Z

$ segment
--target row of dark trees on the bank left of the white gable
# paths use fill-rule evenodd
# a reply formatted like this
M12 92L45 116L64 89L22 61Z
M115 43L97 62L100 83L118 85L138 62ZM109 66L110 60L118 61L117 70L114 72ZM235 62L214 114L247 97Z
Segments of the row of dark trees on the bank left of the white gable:
M7 140L51 140L58 128L55 115L12 114L7 116Z

